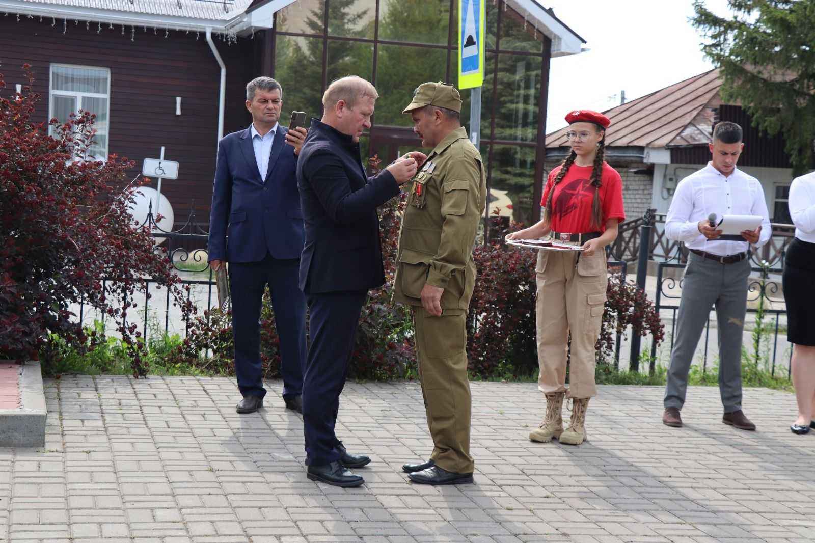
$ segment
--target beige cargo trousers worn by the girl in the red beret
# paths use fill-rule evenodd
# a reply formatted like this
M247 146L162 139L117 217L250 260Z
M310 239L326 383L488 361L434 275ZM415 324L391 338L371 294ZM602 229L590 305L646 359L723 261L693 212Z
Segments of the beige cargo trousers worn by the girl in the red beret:
M586 256L579 251L540 250L535 272L538 389L545 394L566 392L567 398L592 398L597 395L594 346L600 336L608 285L606 253L599 250Z

